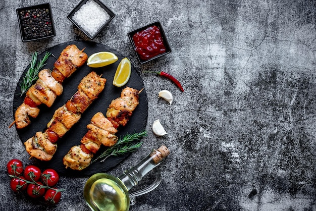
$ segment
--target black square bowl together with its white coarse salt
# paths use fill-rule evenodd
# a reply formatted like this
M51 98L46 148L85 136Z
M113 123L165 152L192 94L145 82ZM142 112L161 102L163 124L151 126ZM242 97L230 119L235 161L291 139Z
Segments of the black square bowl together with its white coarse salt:
M85 35L93 39L115 14L98 0L82 0L67 16Z

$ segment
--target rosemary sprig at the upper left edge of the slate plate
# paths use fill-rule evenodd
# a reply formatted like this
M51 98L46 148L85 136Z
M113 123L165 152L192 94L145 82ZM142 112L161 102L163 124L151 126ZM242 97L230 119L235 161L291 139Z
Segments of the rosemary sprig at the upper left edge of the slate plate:
M23 77L23 81L20 83L21 87L21 96L25 94L25 92L32 86L33 82L38 79L39 70L44 67L46 64L46 60L50 57L50 52L45 52L45 56L41 59L37 64L38 52L35 51L32 54L32 60L30 62L30 67L27 69L25 76Z

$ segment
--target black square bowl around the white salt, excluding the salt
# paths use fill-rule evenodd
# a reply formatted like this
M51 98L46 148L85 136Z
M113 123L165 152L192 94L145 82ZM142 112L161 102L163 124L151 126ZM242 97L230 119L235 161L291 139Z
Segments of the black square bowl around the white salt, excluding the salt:
M79 23L77 23L74 19L73 19L73 17L74 17L74 15L75 15L75 13L77 12L77 11L79 11L80 9L81 9L81 7L84 5L84 4L86 4L86 3L88 3L88 2L90 2L90 1L93 1L93 2L95 2L96 4L98 4L101 8L103 8L103 10L105 10L108 14L109 14L109 16L110 16L110 18L106 21L106 22L104 22L103 24L102 24L102 26L100 26L100 28L94 33L94 34L90 34L86 29L84 29L84 27L83 26L81 26ZM98 0L82 0L70 13L69 13L69 15L67 16L67 18L73 23L73 24L75 24L85 35L87 35L90 39L93 39L98 33L100 33L100 31L106 26L106 25L108 25L109 23L110 23L110 21L113 19L115 17L115 14L107 7L107 6L105 6L104 4L102 4L100 1L98 1ZM96 16L89 16L89 18L91 18L91 20L93 20L94 18L96 18Z

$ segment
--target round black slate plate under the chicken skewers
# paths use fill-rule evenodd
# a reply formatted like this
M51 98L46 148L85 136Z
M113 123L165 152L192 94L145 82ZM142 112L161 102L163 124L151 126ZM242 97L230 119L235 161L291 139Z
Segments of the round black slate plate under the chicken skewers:
M46 128L46 124L49 122L52 115L54 115L55 110L60 108L63 104L67 102L67 100L69 100L72 97L72 95L77 91L77 86L84 76L86 76L91 71L94 71L99 75L102 74L102 77L107 79L107 83L104 90L99 94L98 98L92 102L92 104L88 107L88 109L82 114L79 122L76 123L64 135L63 138L60 138L58 140L57 151L55 155L53 156L52 160L50 160L49 162L43 162L43 161L34 159L35 160L34 162L36 165L38 165L39 167L42 167L43 169L53 168L60 175L67 175L67 176L83 176L83 175L91 175L98 172L106 172L114 168L124 159L126 159L129 153L122 156L109 157L106 162L95 162L92 165L90 165L88 168L82 171L74 171L71 169L66 169L65 166L63 165L63 157L65 154L67 154L67 152L72 146L80 144L81 138L87 132L86 125L89 124L92 116L95 113L102 112L105 115L110 102L113 99L120 96L121 91L124 87L129 86L129 87L140 90L144 88L143 81L141 77L139 76L139 74L136 72L135 68L132 66L132 74L128 83L123 87L114 86L112 84L114 74L116 72L117 66L119 65L120 61L124 57L121 54L119 54L119 52L117 52L116 50L106 45L90 42L90 41L71 41L71 42L62 43L62 44L59 44L47 49L47 51L51 52L55 56L55 58L51 56L47 60L44 68L50 69L50 70L54 68L54 63L57 60L57 58L60 56L60 53L69 44L75 44L78 46L79 49L83 49L85 47L84 52L88 56L99 51L110 51L110 52L113 52L119 58L119 60L112 65L102 67L102 68L90 68L86 64L78 68L77 71L73 73L73 75L71 75L69 78L67 78L63 82L64 92L61 96L57 97L52 107L47 108L44 104L40 105L38 107L40 108L40 114L38 115L38 117L36 119L32 119L32 123L26 128L17 129L17 132L21 141L24 143L27 139L29 139L30 137L33 137L37 131L44 131ZM38 58L41 59L43 56L44 56L44 52L40 54ZM15 96L14 96L14 101L13 101L13 115L15 114L15 111L17 110L19 105L23 102L24 97L25 97L25 95L20 97L20 93L21 93L20 82L22 81L22 78L25 76L26 70L22 74L20 81L17 84L17 88L15 90ZM147 116L148 116L147 95L146 95L146 91L143 90L139 95L139 105L136 107L130 121L125 127L119 127L118 133L116 135L118 137L121 137L121 136L123 137L127 133L131 134L134 132L142 131L146 127ZM101 147L99 152L95 156L97 156L104 149L105 147ZM29 156L29 154L26 151L25 151L25 156Z

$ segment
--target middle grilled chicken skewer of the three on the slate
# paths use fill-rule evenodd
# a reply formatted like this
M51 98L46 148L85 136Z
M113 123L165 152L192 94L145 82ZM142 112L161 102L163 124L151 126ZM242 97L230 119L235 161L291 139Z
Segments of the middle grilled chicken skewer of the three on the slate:
M104 89L107 79L90 72L79 83L77 92L57 109L44 132L24 142L26 151L41 161L49 161L57 150L57 141L79 121L81 114Z

